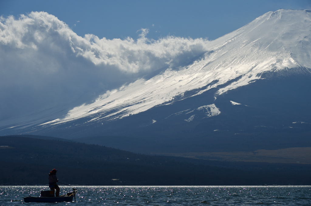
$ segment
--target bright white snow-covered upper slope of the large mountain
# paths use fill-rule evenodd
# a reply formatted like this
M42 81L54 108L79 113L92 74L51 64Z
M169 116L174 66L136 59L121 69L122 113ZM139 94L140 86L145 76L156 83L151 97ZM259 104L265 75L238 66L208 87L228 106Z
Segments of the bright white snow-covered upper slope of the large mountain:
M148 80L138 79L108 91L94 103L73 108L65 118L42 125L80 118L87 118L88 122L119 119L156 105L169 104L186 91L197 89L193 95L198 95L231 81L218 89L217 93L223 94L262 78L261 74L266 71L311 68L310 34L311 11L268 12L212 41L210 51L191 65L169 68Z

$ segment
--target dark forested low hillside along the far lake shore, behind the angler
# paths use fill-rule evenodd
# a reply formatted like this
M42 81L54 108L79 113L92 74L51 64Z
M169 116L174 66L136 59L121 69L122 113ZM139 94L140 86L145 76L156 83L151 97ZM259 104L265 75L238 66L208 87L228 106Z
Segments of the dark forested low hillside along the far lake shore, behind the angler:
M45 185L48 173L77 185L309 185L309 165L226 163L140 155L29 137L0 137L0 185ZM112 180L119 179L119 180Z

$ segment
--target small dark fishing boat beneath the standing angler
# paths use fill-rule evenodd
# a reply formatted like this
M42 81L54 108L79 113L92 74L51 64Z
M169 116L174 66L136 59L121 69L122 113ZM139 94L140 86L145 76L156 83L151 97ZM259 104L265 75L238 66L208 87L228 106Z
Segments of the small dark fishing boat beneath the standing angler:
M72 202L73 197L75 198L76 201L76 193L77 189L73 188L73 192L67 193L66 195L62 195L59 197L54 197L54 192L53 196L47 196L47 197L42 197L42 192L50 192L50 191L42 191L41 192L41 197L24 197L24 202Z

